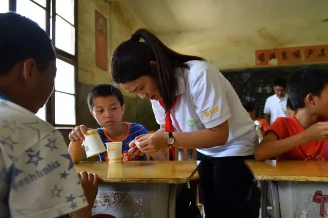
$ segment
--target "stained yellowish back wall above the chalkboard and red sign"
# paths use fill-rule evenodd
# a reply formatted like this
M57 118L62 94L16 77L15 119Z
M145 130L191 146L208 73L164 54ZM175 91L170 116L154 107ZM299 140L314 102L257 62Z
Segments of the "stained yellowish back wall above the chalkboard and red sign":
M327 5L328 7L328 5ZM255 66L255 50L328 44L328 23L290 20L259 29L238 26L227 34L219 29L159 34L171 49L207 59L219 69Z

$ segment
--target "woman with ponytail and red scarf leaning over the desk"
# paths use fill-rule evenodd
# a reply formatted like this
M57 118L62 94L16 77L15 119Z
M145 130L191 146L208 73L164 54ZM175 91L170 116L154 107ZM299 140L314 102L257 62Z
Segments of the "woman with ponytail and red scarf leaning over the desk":
M151 100L160 125L132 141L130 152L196 148L206 217L244 217L253 180L244 160L254 158L258 138L221 72L200 57L172 51L144 29L116 48L111 68L114 82Z

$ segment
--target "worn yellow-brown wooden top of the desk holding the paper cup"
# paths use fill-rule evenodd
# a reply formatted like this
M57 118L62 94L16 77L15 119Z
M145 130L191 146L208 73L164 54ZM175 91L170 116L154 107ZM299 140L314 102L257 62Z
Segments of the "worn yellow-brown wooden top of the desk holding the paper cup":
M84 162L76 171L98 175L100 182L186 183L195 174L197 161L125 161L121 163Z

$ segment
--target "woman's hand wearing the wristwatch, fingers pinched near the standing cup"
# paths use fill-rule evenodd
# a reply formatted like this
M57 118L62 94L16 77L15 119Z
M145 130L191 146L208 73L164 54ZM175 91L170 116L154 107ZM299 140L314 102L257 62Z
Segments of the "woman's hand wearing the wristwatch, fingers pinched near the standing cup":
M168 147L167 139L167 132L154 132L138 137L134 144L143 153L155 153Z

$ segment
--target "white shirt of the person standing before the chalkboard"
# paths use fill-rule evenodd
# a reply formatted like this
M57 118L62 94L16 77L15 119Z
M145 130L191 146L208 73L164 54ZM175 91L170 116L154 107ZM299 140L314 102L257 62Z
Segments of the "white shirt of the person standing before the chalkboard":
M271 95L267 101L265 101L264 105L264 113L270 114L270 125L275 121L277 117L286 117L288 116L287 111L287 99L288 94L285 94L282 99L279 99L279 97L274 94Z

